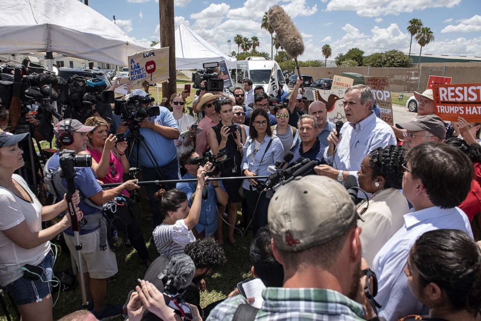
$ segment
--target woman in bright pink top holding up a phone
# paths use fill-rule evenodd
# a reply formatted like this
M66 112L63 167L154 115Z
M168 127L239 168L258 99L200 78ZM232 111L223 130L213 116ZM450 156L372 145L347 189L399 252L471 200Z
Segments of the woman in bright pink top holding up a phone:
M127 142L124 140L117 143L117 137L109 134L109 123L101 117L89 117L85 125L94 127L94 130L87 134L87 149L79 154L92 155L92 169L103 183L123 183L123 175L128 173L130 167L125 155ZM132 200L129 196L127 190L123 190L122 194L116 198L117 202L126 206L117 206L114 215L119 216L125 223L128 239L137 250L142 263L148 267L151 261L142 231L130 210Z

